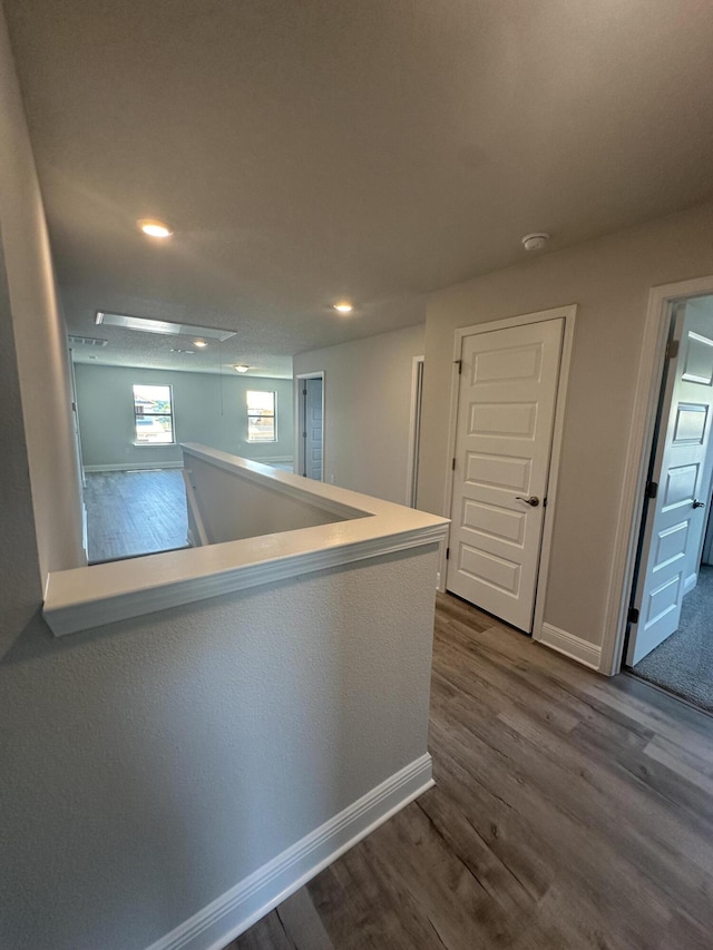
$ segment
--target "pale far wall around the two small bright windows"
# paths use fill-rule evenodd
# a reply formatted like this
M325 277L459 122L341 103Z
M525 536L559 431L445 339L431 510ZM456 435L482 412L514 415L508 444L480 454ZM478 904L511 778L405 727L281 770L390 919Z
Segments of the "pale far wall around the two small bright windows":
M180 462L178 444L134 444L134 383L173 386L177 442L201 442L247 459L292 458L292 380L87 363L76 364L75 375L81 451L87 467L158 467ZM253 389L276 393L276 442L247 441L245 392Z

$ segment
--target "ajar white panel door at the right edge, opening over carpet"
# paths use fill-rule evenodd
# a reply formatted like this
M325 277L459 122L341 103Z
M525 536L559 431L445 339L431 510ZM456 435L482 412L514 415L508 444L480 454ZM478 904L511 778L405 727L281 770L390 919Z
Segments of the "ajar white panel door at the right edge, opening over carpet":
M695 586L711 493L713 418L711 316L695 301L680 307L662 402L626 663L635 666L678 628ZM677 347L675 344L678 344ZM651 492L653 493L653 491Z

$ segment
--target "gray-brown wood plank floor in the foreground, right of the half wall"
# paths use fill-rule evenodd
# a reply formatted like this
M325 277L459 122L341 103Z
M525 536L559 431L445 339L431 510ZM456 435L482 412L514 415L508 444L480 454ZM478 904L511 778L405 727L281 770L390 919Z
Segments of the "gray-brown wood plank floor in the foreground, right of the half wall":
M713 948L713 718L447 595L430 751L434 789L229 950Z

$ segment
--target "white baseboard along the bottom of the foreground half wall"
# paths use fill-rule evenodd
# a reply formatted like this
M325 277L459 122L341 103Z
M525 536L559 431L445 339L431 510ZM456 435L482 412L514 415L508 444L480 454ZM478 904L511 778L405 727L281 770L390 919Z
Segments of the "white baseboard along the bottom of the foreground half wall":
M152 943L147 950L222 950L432 785L431 756L427 753Z

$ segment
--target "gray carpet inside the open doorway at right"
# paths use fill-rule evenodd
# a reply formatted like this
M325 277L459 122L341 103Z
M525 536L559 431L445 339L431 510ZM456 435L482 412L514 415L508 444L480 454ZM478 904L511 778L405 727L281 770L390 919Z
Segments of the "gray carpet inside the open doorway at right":
M632 673L713 713L713 567L701 567L676 633Z

